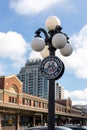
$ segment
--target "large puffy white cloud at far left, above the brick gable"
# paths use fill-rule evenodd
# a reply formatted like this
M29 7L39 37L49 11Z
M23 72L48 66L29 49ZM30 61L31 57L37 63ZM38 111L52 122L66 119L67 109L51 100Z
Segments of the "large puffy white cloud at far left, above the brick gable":
M2 61L3 69L10 67L19 68L25 62L25 55L29 44L25 39L16 32L0 32L0 60ZM6 61L5 61L6 60ZM9 61L9 63L8 63ZM5 63L6 62L6 63Z

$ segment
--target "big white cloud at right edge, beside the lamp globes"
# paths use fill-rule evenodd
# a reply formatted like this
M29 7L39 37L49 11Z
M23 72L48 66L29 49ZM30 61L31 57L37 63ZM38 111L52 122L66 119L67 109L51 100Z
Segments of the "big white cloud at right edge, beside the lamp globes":
M70 44L73 46L72 55L63 57L59 50L56 55L77 78L87 79L87 25L80 32L71 36Z

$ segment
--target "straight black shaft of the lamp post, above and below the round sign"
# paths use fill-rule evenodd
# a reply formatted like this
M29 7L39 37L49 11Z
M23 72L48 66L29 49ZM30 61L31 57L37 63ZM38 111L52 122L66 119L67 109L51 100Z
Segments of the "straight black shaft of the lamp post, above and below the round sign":
M49 45L50 56L55 56L55 49ZM55 79L49 79L48 95L48 130L55 128Z

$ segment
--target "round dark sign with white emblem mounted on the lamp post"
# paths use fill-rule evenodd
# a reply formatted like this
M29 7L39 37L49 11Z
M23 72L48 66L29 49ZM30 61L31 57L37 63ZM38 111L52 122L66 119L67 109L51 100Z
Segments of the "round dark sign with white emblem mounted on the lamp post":
M64 64L60 58L48 56L42 61L41 72L47 79L59 79L64 73Z

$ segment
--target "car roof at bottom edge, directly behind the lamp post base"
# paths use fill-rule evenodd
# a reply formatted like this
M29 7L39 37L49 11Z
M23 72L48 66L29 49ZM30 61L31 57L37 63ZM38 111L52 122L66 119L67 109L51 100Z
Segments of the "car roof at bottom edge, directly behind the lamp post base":
M26 128L25 130L48 130L47 126L36 126L36 127L30 127ZM55 130L72 130L65 126L55 126Z

